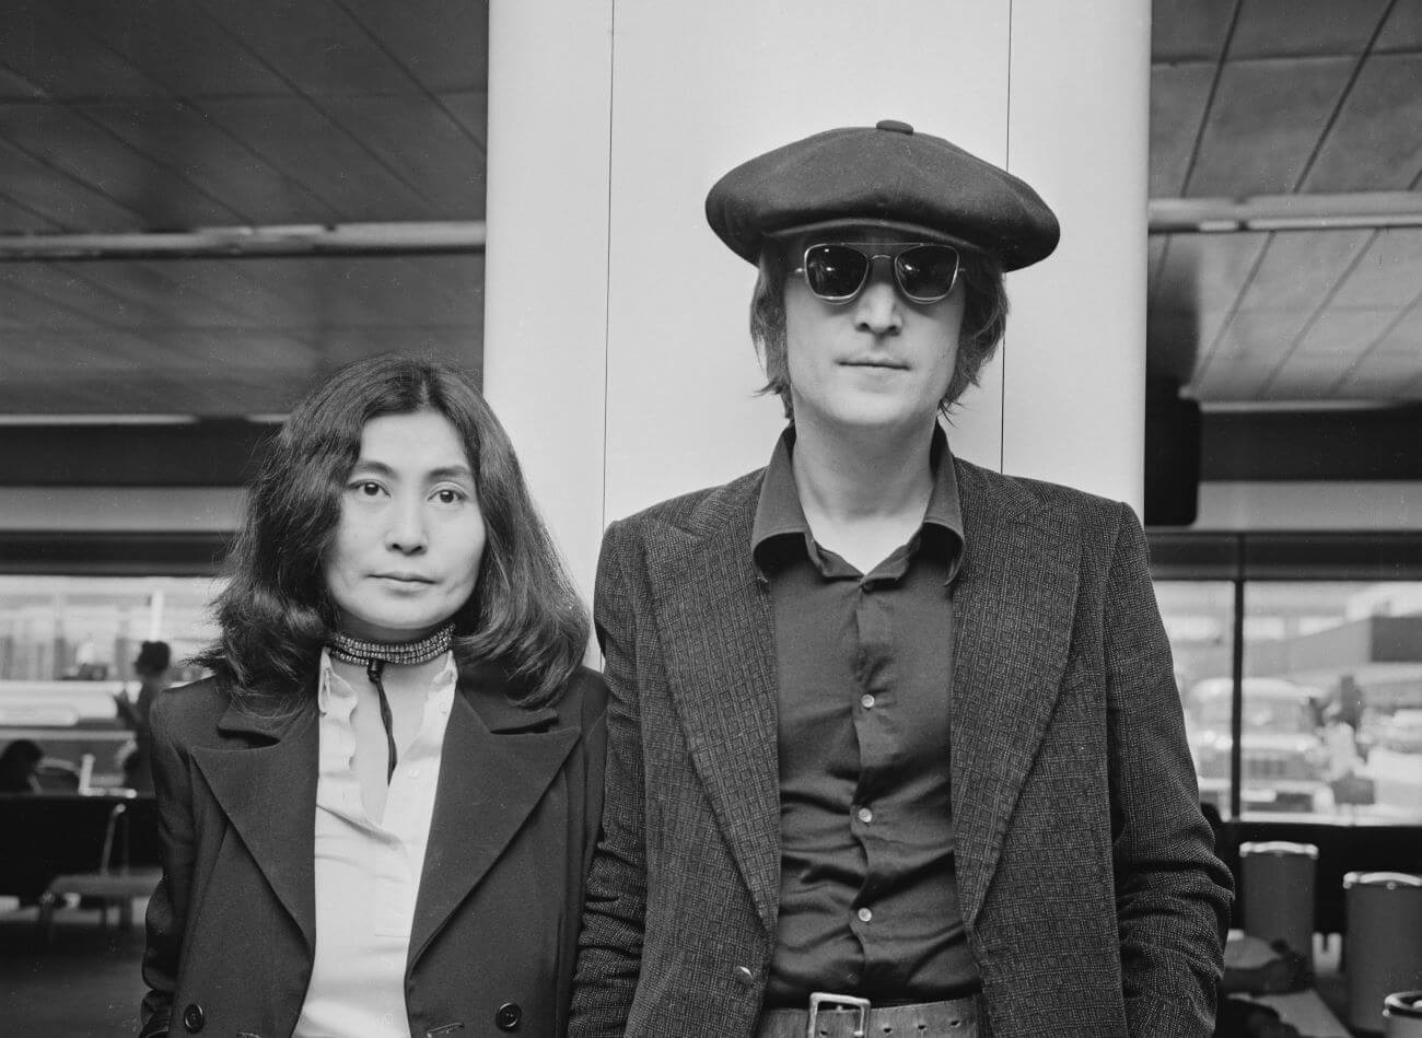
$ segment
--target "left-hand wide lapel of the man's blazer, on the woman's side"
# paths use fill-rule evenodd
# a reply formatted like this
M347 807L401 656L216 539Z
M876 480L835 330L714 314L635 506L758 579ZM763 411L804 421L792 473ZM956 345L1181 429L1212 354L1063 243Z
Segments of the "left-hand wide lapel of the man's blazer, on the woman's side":
M761 481L724 491L704 532L658 530L653 610L671 700L697 774L769 933L779 897L781 802L775 631L751 559Z

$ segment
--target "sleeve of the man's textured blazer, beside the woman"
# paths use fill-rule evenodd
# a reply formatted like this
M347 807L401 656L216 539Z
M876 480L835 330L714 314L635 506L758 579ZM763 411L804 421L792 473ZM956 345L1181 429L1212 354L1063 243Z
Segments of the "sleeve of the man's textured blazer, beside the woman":
M603 832L583 903L569 1038L609 1038L627 1027L641 971L647 907L643 761L637 705L636 593L624 523L603 536L593 619L607 680Z

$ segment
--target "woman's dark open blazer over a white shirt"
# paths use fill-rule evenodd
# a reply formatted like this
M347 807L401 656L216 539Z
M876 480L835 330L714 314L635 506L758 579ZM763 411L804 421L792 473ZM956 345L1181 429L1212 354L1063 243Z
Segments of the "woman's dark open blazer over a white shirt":
M566 1028L606 685L580 668L538 710L509 692L499 667L459 674L405 965L412 1038ZM296 1027L316 946L314 704L253 715L212 680L158 697L164 877L148 907L144 1038Z

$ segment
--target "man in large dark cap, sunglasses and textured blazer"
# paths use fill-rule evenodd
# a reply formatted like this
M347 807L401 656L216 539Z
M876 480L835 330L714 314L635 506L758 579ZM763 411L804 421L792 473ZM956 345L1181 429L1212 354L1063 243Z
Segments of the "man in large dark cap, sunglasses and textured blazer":
M792 421L603 542L570 1035L1210 1034L1230 880L1140 525L937 422L1055 216L892 121L751 159L707 215L759 264Z

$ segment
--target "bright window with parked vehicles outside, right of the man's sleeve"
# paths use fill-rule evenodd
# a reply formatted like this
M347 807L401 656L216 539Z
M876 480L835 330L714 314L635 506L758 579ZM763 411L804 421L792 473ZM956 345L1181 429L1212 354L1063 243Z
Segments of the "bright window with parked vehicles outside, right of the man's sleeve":
M1422 822L1422 583L1158 580L1156 593L1202 801L1226 818Z

